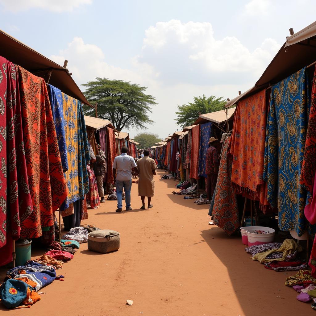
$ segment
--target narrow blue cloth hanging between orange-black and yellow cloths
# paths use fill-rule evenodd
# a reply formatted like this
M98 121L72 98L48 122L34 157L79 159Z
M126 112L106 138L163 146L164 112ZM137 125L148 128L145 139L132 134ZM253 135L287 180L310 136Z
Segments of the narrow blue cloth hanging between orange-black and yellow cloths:
M61 163L63 165L63 170L66 172L68 170L68 160L67 160L67 145L66 145L66 135L65 135L65 120L64 120L64 110L63 110L63 96L62 92L55 88L54 86L47 84L49 100L51 102L52 114L56 128L56 134L58 139L58 148L60 152Z

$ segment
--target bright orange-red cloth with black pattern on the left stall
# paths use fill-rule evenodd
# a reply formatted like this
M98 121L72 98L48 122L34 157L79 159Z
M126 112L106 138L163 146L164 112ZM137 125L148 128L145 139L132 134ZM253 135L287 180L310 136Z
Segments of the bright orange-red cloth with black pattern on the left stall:
M54 224L53 212L68 194L46 84L17 66L28 184L33 212L22 222L21 237L37 238Z

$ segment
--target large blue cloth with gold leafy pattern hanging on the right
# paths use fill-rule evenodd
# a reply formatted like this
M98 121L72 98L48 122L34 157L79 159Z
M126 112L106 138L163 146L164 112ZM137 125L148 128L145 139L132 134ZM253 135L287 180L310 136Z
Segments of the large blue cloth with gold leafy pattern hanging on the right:
M267 200L278 208L280 230L305 230L305 195L300 185L304 155L308 89L306 70L272 86L267 122L264 179Z

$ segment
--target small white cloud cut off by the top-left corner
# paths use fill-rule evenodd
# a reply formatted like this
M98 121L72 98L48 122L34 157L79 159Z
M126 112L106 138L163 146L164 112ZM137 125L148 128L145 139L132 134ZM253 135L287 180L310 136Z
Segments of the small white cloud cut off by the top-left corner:
M64 12L91 3L92 0L2 0L0 4L10 11L44 9L52 12Z

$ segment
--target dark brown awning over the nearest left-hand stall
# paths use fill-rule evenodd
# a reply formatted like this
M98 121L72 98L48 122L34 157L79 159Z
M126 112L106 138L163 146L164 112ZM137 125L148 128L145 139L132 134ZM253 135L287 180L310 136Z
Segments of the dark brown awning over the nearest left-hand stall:
M2 30L0 30L0 43L0 55L2 57L25 68L36 76L44 78L46 82L49 77L49 71L52 71L49 80L50 84L65 94L91 106L76 85L76 82L72 79L67 68L56 64Z

